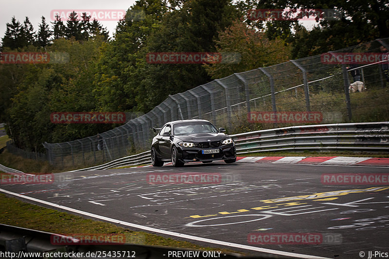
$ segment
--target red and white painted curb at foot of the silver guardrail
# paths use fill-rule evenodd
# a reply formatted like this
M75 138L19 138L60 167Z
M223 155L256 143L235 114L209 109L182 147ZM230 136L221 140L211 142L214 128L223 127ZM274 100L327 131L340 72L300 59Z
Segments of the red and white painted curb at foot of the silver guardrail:
M340 166L383 166L389 167L389 158L351 157L351 156L238 156L237 163L273 163L305 165L340 165ZM194 162L201 163L201 162ZM166 163L163 166L171 166ZM134 166L137 167L150 167Z

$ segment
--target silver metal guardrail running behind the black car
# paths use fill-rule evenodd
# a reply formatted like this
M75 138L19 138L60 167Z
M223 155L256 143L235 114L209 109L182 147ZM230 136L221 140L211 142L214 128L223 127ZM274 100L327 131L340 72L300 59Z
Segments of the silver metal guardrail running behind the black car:
M238 155L268 151L387 151L389 121L292 126L230 135ZM151 163L150 151L104 165L74 170L101 170Z

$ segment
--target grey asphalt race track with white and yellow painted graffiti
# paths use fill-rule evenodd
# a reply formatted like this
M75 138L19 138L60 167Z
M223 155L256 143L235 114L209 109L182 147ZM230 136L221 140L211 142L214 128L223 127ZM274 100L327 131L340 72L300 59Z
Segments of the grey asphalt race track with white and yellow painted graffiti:
M388 174L389 169L213 162L182 168L56 173L49 184L2 184L0 188L53 203L60 210L64 207L58 206L65 206L116 219L122 226L130 223L126 226L133 229L131 224L139 224L195 236L198 240L189 241L204 246L223 246L204 239L231 242L230 249L250 255L261 255L264 249L280 255L301 254L298 258L389 254L388 182L323 182L323 174L334 173L375 175ZM176 182L166 182L167 177ZM202 182L193 182L198 179ZM151 232L168 236L168 232ZM269 239L270 234L276 236ZM184 239L177 236L173 238ZM306 242L293 242L298 237ZM315 239L305 239L309 237Z

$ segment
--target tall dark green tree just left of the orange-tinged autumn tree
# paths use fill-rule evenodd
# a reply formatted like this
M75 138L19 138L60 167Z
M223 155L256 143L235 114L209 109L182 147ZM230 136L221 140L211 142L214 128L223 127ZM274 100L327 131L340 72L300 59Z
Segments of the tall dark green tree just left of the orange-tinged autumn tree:
M148 37L147 52L215 52L213 40L236 18L236 9L230 0L184 1L181 8L168 13L159 29ZM211 81L201 64L147 64L143 57L137 66L142 74L136 86L137 109L144 113L169 94Z

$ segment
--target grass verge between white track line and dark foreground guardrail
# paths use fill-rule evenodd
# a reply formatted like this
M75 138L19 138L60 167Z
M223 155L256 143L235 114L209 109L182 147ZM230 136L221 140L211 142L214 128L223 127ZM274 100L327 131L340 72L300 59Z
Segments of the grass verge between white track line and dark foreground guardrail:
M67 212L22 202L2 193L0 193L0 222L58 234L124 234L125 240L131 243L236 253L229 249L202 247L191 242L165 238L143 231L133 231L102 221L85 219Z

